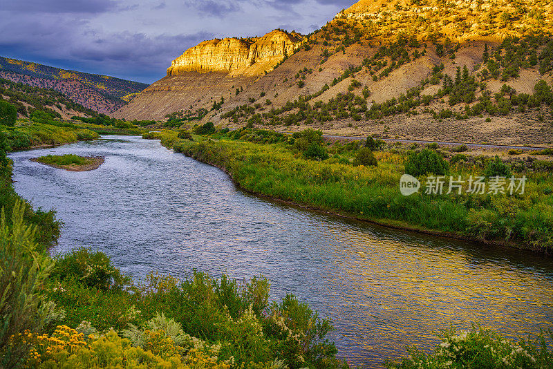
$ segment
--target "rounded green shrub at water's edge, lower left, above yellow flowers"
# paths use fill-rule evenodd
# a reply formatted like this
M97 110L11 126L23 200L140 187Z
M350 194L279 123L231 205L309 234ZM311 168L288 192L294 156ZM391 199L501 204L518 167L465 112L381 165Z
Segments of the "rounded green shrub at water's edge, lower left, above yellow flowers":
M131 282L128 276L123 276L120 270L111 264L106 254L93 252L85 247L57 256L55 262L52 276L59 281L71 278L86 287L104 291L120 290Z

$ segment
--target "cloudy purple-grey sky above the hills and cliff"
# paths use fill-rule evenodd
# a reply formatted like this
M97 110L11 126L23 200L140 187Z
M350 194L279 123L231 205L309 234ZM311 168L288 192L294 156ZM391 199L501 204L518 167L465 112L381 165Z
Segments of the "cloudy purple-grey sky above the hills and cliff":
M151 83L215 37L309 33L355 0L1 0L0 56Z

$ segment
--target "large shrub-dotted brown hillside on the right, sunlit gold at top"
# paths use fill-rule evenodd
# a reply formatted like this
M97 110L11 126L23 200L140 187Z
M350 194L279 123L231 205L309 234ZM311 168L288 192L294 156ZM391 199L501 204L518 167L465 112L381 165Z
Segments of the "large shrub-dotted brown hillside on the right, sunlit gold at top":
M182 111L233 127L552 144L552 29L545 1L363 0L267 74L206 71L200 58L178 83L165 77L115 115Z

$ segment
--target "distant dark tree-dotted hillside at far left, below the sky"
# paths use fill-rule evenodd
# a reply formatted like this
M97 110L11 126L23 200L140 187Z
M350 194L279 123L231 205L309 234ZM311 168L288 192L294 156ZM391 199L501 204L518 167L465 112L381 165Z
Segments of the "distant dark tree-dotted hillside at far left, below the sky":
M148 85L0 57L0 77L29 86L53 88L99 113L113 113Z

